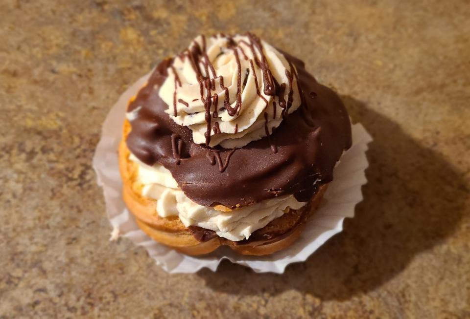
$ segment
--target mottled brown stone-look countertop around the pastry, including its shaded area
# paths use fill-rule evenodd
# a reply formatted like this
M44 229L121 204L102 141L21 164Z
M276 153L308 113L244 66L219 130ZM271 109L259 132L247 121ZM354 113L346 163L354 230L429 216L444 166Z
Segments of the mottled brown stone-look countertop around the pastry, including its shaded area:
M1 319L470 318L469 3L307 2L1 1ZM108 241L109 107L219 30L302 57L375 139L356 217L282 276L168 275Z

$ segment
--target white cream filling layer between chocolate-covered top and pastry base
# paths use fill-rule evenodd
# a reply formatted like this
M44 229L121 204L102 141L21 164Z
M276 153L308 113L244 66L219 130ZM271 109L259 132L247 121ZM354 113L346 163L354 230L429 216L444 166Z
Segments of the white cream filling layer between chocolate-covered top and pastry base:
M285 195L231 212L216 211L191 201L162 165L145 165L132 154L129 159L139 165L137 178L143 184L142 195L157 201L159 216L178 216L186 227L209 229L229 240L248 239L254 231L281 217L289 208L298 210L306 204L297 201L293 195Z

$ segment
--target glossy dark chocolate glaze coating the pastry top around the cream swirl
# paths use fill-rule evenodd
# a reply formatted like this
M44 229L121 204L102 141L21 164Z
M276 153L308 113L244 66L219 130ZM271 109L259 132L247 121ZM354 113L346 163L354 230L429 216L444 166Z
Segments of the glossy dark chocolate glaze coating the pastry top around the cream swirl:
M222 204L233 208L285 194L309 201L319 184L332 180L336 162L343 150L351 146L351 124L339 97L316 82L302 61L284 55L297 68L297 74L292 69L291 72L298 79L302 105L291 114L286 112L270 137L253 141L235 152L195 144L192 131L176 124L164 112L168 105L160 98L159 87L172 63L166 59L129 104L128 111L139 106L141 109L131 121L128 148L145 164L159 163L170 170L186 195L202 206ZM274 77L266 72L266 81L270 80ZM309 92L316 93L314 99L305 99L304 94ZM284 101L283 111L285 108ZM181 144L176 144L173 134L178 135ZM276 142L277 153L273 153L270 139ZM320 182L316 183L317 179Z

